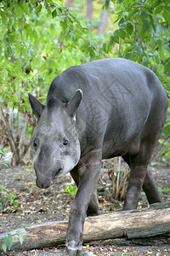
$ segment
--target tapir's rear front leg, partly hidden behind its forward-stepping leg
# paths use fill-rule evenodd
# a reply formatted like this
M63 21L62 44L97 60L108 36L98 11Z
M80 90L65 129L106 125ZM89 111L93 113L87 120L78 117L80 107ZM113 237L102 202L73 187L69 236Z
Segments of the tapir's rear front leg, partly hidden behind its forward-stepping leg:
M74 168L71 171L71 177L74 179L78 187L79 176L78 176L77 168ZM97 195L97 189L95 189L94 194L92 195L92 198L91 198L91 201L89 202L88 210L87 210L87 216L95 216L95 215L99 215L99 200Z

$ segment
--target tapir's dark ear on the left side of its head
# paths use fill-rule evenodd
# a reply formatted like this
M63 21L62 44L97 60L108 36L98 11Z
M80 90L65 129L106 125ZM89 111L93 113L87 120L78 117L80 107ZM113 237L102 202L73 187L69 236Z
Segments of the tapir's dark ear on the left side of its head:
M42 115L42 111L44 109L44 105L37 100L34 96L31 95L30 92L28 92L28 99L30 101L31 109L33 114L39 119Z

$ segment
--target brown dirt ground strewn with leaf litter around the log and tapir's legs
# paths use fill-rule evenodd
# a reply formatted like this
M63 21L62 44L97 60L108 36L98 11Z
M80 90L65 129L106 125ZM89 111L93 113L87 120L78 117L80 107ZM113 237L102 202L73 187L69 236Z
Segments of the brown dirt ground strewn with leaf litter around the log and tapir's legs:
M158 188L161 190L163 201L170 201L169 166L157 165L152 167ZM4 191L15 196L19 207L15 212L7 207L7 212L0 213L0 233L22 228L29 224L38 224L52 220L68 219L73 195L65 192L65 185L71 182L69 175L55 180L48 189L38 189L35 186L35 173L31 167L3 169L0 171L0 181L3 182ZM105 195L99 195L100 212L113 212L122 210L122 202L111 203L105 200ZM142 196L139 207L148 207L146 199ZM150 220L149 220L150 221ZM147 239L113 239L108 241L91 241L83 245L83 252L92 252L94 255L170 255L170 236L150 237ZM67 255L65 246L48 247L24 252L10 252L0 255Z

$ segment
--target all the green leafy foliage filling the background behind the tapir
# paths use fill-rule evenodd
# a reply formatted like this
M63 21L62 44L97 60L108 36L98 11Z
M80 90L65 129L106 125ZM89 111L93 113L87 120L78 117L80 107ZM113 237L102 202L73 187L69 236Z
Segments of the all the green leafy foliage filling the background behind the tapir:
M48 85L67 67L120 56L151 68L169 96L168 0L105 0L110 23L101 36L96 29L102 9L94 9L91 32L82 3L74 3L71 12L62 0L0 2L0 134L14 165L26 155L36 123L27 91L45 102ZM169 127L167 121L164 134Z

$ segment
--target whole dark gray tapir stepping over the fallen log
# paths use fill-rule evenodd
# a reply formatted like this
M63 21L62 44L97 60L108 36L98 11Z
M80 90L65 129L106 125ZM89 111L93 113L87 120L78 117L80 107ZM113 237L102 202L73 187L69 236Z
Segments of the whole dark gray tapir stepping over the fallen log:
M147 166L166 119L167 96L156 74L133 61L111 58L69 67L54 79L42 105L29 93L37 127L31 154L42 189L67 172L78 190L66 237L70 255L82 250L86 214L99 214L101 160L122 156L131 167L124 210L137 207L143 188L161 201Z

